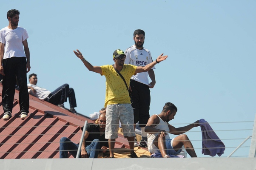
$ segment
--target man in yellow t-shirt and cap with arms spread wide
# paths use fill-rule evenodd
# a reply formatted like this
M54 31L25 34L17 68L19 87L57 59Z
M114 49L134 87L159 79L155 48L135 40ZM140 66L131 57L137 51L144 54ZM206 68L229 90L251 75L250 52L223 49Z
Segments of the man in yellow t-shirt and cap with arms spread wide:
M74 51L74 54L82 60L89 71L104 75L106 78L105 107L107 107L107 109L105 138L108 139L110 158L114 158L113 149L115 140L118 138L117 131L119 121L122 125L124 137L126 137L129 142L130 157L137 158L136 153L134 153L134 114L125 82L129 87L132 75L150 70L156 63L165 60L168 56L161 54L154 62L151 62L145 67L137 67L124 64L126 56L120 49L115 50L113 53L114 65L93 66L85 60L79 50ZM125 82L118 72L125 79Z

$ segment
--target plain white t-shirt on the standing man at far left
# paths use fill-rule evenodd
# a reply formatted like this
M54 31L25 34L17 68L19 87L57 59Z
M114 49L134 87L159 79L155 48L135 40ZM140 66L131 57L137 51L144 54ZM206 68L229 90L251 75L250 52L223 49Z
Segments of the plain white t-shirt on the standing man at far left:
M11 57L26 57L23 41L28 38L28 32L22 27L9 29L5 27L0 30L0 42L4 45L3 59Z

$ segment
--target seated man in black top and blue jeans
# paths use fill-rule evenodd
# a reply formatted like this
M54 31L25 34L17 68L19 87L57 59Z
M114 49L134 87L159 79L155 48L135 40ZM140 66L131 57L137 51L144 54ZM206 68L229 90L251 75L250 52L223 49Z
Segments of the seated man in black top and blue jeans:
M105 152L108 148L108 139L105 139L106 113L99 116L98 125L88 123L85 136L82 141L80 158L97 158L99 150ZM79 144L71 142L70 139L62 137L60 139L60 158L68 158L68 152L74 158L77 155Z

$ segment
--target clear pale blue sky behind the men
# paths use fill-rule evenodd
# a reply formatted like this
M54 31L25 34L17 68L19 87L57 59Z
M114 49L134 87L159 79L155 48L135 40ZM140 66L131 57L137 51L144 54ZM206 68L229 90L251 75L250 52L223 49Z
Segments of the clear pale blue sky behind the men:
M73 50L92 65L113 64L117 48L134 44L135 29L145 31L144 47L156 65L150 114L173 102L179 127L205 119L225 143L228 156L252 134L256 111L255 0L12 0L0 6L0 28L9 9L20 11L28 31L31 71L40 87L74 88L77 111L88 116L104 105L105 77L88 71ZM65 103L68 106L68 102ZM199 157L200 128L186 133ZM171 135L171 137L174 137ZM233 156L248 156L250 140Z

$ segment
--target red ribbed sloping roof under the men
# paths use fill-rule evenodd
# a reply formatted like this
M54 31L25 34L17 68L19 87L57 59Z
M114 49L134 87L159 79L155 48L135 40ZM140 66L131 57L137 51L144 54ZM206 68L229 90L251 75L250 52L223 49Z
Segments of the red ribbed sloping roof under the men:
M0 92L2 88L0 84ZM18 93L16 90L12 117L7 121L2 119L0 97L0 159L59 158L60 138L65 136L79 143L85 120L94 123L87 116L71 113L31 95L28 117L21 120ZM129 148L127 139L118 135L115 147Z

